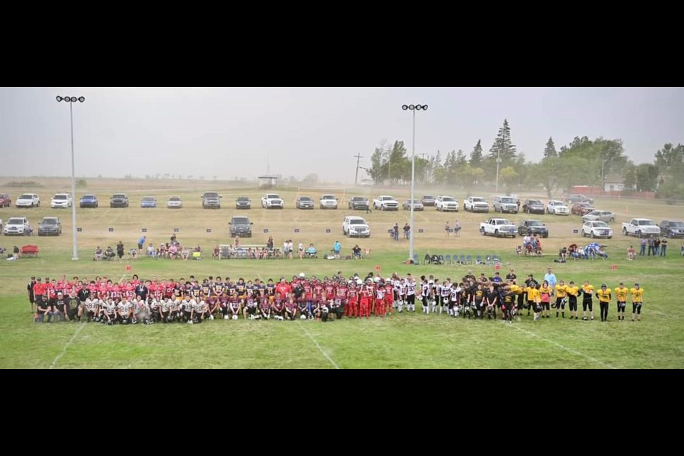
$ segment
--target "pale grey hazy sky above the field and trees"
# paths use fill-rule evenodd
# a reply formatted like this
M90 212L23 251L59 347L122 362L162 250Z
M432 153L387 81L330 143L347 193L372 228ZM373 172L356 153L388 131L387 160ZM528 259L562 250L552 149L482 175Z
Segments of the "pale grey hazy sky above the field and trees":
M635 162L684 142L683 88L0 88L0 175L71 175L68 103L75 103L76 175L156 173L211 179L271 172L353 182L381 140L416 153L485 152L504 118L528 160L549 136L621 138ZM359 172L359 179L366 177Z

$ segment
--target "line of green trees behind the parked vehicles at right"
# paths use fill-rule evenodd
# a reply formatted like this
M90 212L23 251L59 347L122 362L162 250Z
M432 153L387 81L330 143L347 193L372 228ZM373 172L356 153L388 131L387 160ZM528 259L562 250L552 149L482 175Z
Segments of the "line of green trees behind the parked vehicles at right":
M442 157L416 154L415 181L421 184L450 185L468 190L483 185L494 187L499 165L499 190L512 192L522 187L540 187L551 197L574 185L603 187L608 176L619 175L625 193L658 192L659 197L684 199L684 146L665 144L655 153L655 162L636 165L626 157L622 140L576 137L556 150L553 138L539 162L526 160L512 142L507 120L487 153L482 140L469 154L452 150ZM367 170L376 184L408 185L411 179L410 154L403 141L381 142L371 155Z

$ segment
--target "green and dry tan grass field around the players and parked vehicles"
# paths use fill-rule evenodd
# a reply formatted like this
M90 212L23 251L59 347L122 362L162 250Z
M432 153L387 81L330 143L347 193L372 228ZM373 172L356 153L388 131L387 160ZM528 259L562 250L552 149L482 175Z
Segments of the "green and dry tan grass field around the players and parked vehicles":
M165 184L164 181L162 183ZM533 273L543 276L552 266L559 279L575 282L589 279L594 286L602 282L614 288L619 281L631 286L638 281L646 289L643 321L616 320L616 306L611 304L610 321L570 321L550 318L532 321L524 316L512 324L501 321L455 320L445 315L394 314L385 319L349 320L320 323L316 321L207 321L200 325L157 324L152 326L102 326L95 323L33 323L26 299L26 283L31 275L58 278L66 276L97 275L118 280L122 276L138 274L143 278L178 278L194 274L198 278L221 275L237 278L244 276L264 279L291 276L303 271L318 276L332 275L336 271L350 275L365 275L380 266L383 274L398 271L414 275L435 274L440 279L449 276L458 279L468 269L477 275L481 271L492 275L492 266L410 266L403 264L408 257L408 242L393 242L386 233L395 222L402 225L408 212L373 212L363 214L368 219L373 235L371 239L345 239L341 236L341 222L347 209L311 212L292 209L296 190L281 191L287 208L283 211L266 211L259 208L263 192L236 189L209 182L195 182L182 188L172 184L160 185L157 181L93 181L87 192L100 198L98 209L77 209L80 261L71 261L71 212L49 209L53 192L68 188L68 180L43 182L39 193L40 208L18 211L0 209L4 220L12 215L26 214L31 224L48 214L59 214L64 225L61 237L9 238L0 237L0 246L38 244L41 254L37 258L18 261L0 261L0 367L2 368L682 368L684 367L684 309L677 294L682 279L680 240L670 240L668 257L623 259L628 245L638 245L635 238L625 238L616 232L613 239L602 241L611 254L608 261L570 261L554 264L554 252L570 242L581 243L573 234L579 229L579 217L553 217L544 215L551 230L544 247L548 255L540 258L516 257L514 246L520 239L482 238L477 224L485 214L442 214L432 208L416 214L415 252L422 258L425 253L489 254L502 256L502 272L514 267L519 276ZM167 187L165 187L167 186ZM0 190L6 191L1 187ZM204 190L218 190L224 196L220 210L200 208L199 195ZM28 190L27 190L28 191ZM131 197L128 209L110 209L108 197L113 192L125 191ZM364 195L346 190L347 197ZM13 197L20 192L10 192ZM85 190L78 195L86 193ZM378 194L392 194L386 190ZM263 244L269 234L276 246L291 238L295 245L314 242L320 252L331 248L339 239L343 252L353 244L371 248L371 257L363 260L227 260L212 261L209 255L201 261L169 261L138 259L135 261L94 262L92 252L97 245L114 246L122 240L127 249L133 247L140 229L147 228L147 237L158 244L167 242L172 229L182 243L201 245L205 252L216 244L228 243L227 221L234 209L234 197L246 194L252 197L253 209L239 212L248 214L254 222L254 238L243 243ZM408 193L394 192L405 198ZM432 192L434 195L435 192ZM140 209L140 197L156 195L162 205L157 209ZM184 209L163 207L169 195L181 195ZM318 198L318 194L309 192ZM459 199L462 194L453 195ZM489 196L489 195L485 195ZM527 195L521 195L527 196ZM684 218L684 208L660 205L658 202L625 202L619 199L600 200L597 207L618 213L618 222L628 217ZM345 205L346 207L346 205ZM493 216L493 214L489 214ZM515 222L526 218L524 214L507 216ZM463 230L460 238L445 237L442 229L446 220L451 224L459 219ZM617 225L617 224L616 224ZM114 227L115 232L107 231ZM212 228L207 234L206 228ZM269 234L263 234L268 228ZM294 232L299 228L299 233ZM613 228L616 228L615 226ZM331 229L331 233L326 233ZM618 229L616 229L618 231ZM208 257L208 258L207 258ZM130 264L132 270L126 271ZM611 264L616 269L611 269ZM674 292L672 290L675 290ZM628 306L631 311L631 306Z

